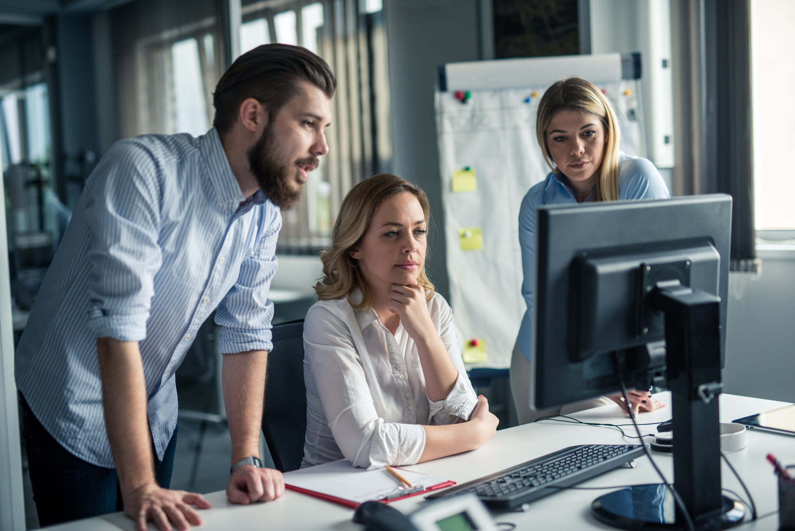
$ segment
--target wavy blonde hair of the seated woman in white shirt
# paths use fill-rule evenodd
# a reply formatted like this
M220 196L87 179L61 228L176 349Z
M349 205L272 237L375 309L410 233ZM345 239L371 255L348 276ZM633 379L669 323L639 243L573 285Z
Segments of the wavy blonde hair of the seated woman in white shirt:
M323 278L315 285L318 299L337 299L345 295L351 306L357 310L362 308L369 310L372 307L370 288L359 269L359 261L352 258L351 253L362 244L378 207L390 197L404 192L417 197L425 215L425 223L430 224L431 209L425 192L391 173L371 176L347 192L332 230L331 249L320 253L320 260L323 261ZM425 288L425 299L430 300L434 288L425 275L425 262L420 269L420 276L417 277L417 284ZM362 291L362 300L353 303L351 292L357 288Z

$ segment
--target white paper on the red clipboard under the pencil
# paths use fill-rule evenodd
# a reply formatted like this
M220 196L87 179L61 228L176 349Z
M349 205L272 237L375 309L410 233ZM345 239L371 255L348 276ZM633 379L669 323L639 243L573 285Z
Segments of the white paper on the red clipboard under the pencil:
M412 485L421 485L425 488L448 481L444 478L403 469L400 469L400 475ZM364 470L354 467L347 459L287 472L285 473L285 483L357 503L393 494L400 486L394 475L386 471L386 468Z

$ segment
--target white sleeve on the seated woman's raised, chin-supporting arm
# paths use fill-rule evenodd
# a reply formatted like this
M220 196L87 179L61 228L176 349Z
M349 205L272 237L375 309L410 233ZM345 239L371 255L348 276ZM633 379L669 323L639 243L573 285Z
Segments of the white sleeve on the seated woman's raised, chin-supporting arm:
M440 305L438 316L440 320L439 335L447 348L448 355L453 364L458 369L456 385L453 386L448 396L444 400L432 401L428 399L429 405L429 424L456 424L469 420L475 405L478 404L478 397L472 384L467 378L467 370L463 366L461 359L461 347L456 337L456 326L453 321L452 309L447 302L437 297L436 304Z

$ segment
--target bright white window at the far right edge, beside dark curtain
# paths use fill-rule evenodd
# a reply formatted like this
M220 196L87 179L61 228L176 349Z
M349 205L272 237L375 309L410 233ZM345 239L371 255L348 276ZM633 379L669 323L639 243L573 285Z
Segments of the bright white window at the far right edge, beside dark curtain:
M758 231L793 231L795 172L787 130L795 108L786 93L795 86L795 62L781 52L793 49L795 2L751 0L750 12L755 224Z

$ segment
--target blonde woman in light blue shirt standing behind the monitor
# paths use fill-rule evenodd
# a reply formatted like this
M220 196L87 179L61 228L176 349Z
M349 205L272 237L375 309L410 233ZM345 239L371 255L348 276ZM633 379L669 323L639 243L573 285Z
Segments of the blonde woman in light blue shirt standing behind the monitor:
M535 411L529 407L531 332L533 327L533 258L536 207L546 204L668 199L668 188L654 165L619 150L621 133L611 103L595 85L572 77L549 87L538 104L538 144L552 169L541 183L530 188L519 210L519 243L522 246L522 295L527 311L510 364L510 385L520 424L538 417L573 413L597 405L618 402L616 395ZM630 391L634 412L661 407L646 390Z

